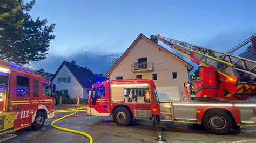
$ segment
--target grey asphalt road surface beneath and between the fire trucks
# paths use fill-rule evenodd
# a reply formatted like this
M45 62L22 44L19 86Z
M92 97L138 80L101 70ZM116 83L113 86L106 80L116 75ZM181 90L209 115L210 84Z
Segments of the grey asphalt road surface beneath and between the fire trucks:
M84 114L80 112L78 114ZM56 113L63 116L66 113ZM51 120L46 120L43 128L37 131L25 128L17 131L17 137L5 142L89 142L89 139L79 134L57 130L50 126ZM70 117L55 125L90 134L94 142L157 142L157 128L150 120L138 120L128 127L117 126L110 117ZM256 142L256 127L241 127L240 133L214 135L194 124L161 123L163 137L167 142Z

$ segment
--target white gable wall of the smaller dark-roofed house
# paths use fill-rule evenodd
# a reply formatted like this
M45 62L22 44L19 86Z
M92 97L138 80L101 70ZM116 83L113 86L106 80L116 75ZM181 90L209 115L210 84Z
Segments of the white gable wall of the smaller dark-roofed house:
M58 83L58 78L60 77L70 77L70 83ZM76 77L73 76L66 65L62 66L52 83L56 85L56 90L68 89L70 98L76 98L77 96L83 98L83 87L76 80Z

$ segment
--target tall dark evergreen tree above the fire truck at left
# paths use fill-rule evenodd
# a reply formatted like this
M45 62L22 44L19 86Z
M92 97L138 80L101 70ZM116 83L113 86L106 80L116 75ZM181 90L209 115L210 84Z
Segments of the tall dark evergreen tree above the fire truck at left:
M55 24L47 19L32 19L28 11L35 0L23 4L22 0L0 1L0 58L19 65L40 61L48 54Z

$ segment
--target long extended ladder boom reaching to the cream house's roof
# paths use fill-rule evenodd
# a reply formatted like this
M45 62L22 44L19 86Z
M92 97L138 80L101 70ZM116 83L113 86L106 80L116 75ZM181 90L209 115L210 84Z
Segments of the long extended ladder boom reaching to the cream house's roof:
M200 47L197 45L193 45L187 42L163 37L160 34L158 35L151 35L151 39L154 42L157 42L157 40L160 40L164 42L164 44L170 46L172 49L178 51L179 53L185 55L187 58L191 58L190 54L191 51L193 54L197 54L195 58L197 57L197 61L200 63L203 62L206 66L214 66L217 70L220 72L226 70L227 75L230 76L237 76L239 77L238 73L236 71L231 70L237 70L239 73L243 73L245 75L249 75L250 78L255 79L256 76L256 62L250 59L241 58L239 56L231 55L224 52L215 51L212 49L208 49L205 47ZM212 60L212 61L211 61ZM192 60L193 61L193 60ZM218 68L221 65L221 68ZM223 68L224 67L224 68ZM233 68L227 70L226 68Z

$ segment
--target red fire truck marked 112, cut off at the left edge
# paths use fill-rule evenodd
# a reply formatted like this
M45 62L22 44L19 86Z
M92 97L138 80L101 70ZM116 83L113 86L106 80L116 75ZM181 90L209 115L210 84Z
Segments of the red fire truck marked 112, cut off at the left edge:
M15 137L19 129L37 130L53 117L54 86L34 71L0 60L0 137Z

